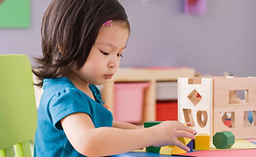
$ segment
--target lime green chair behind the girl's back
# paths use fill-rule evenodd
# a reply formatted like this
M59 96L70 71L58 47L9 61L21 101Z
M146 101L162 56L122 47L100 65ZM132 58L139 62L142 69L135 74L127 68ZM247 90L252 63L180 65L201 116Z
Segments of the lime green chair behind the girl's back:
M31 157L37 126L32 66L25 55L0 55L0 157Z

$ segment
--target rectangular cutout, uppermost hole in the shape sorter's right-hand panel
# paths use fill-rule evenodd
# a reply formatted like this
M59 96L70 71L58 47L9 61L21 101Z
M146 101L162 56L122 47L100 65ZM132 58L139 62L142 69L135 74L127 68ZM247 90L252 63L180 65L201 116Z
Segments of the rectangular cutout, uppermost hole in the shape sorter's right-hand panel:
M244 104L248 103L249 98L248 98L248 90L234 90L230 91L229 93L229 99L230 99L230 104Z

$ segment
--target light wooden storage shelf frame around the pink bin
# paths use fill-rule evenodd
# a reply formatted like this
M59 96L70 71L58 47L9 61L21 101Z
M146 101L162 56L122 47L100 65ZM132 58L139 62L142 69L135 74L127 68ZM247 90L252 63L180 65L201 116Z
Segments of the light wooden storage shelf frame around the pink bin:
M116 75L107 81L101 89L102 98L105 102L105 106L113 113L115 119L115 107L119 106L115 104L115 84L117 83L141 83L146 82L148 86L144 91L143 102L143 114L141 123L149 120L156 120L156 104L157 98L160 100L174 98L177 92L171 92L167 90L167 93L158 94L161 91L157 91L157 85L174 85L177 78L190 78L194 77L196 72L192 68L180 67L180 68L119 68ZM170 82L170 84L168 83ZM158 84L160 83L160 84ZM167 84L167 85L165 85ZM122 101L131 101L131 99L121 99ZM132 116L132 115L131 115Z

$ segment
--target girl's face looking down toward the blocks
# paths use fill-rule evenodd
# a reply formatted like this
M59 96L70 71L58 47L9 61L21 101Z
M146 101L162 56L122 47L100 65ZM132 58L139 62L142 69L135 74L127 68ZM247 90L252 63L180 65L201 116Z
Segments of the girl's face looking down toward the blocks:
M112 78L119 67L128 37L129 30L124 23L103 25L85 64L75 72L79 80L83 84L103 85Z

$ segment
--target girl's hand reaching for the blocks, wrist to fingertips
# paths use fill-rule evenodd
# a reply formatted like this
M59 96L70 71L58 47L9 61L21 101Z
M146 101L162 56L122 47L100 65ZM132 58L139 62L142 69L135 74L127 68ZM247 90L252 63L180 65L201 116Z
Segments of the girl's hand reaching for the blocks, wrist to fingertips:
M190 126L188 124L188 126ZM175 145L189 152L190 149L177 140L178 137L186 137L195 140L196 131L188 126L183 125L179 121L163 121L159 125L149 127L153 131L155 144L154 147L162 147Z

